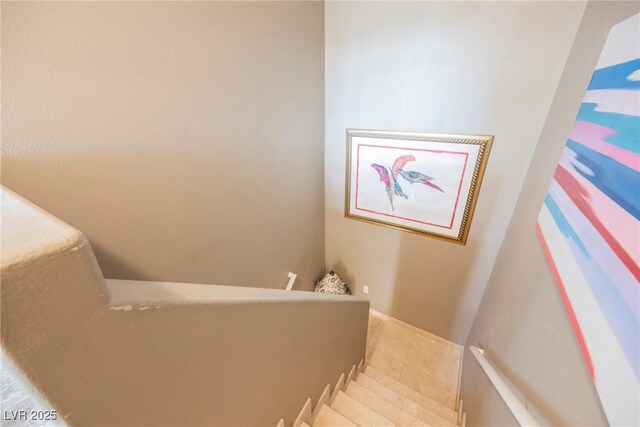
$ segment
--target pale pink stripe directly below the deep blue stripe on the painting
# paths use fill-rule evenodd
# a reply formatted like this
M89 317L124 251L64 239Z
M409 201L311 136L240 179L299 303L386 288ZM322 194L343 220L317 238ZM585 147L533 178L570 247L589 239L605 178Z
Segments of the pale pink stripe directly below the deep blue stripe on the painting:
M629 212L622 209L620 205L611 200L598 187L580 174L573 172L573 162L575 162L575 153L571 149L565 148L559 165L570 171L571 176L589 194L589 204L595 216L603 224L606 224L607 229L624 248L625 252L635 254L637 259L638 254L640 254L640 239L638 239L640 224Z

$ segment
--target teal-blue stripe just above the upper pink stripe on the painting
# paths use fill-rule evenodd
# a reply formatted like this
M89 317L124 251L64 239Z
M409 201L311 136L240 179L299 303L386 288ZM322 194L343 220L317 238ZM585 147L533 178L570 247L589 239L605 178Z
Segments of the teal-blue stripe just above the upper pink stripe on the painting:
M640 92L638 93L640 97ZM639 101L640 102L640 101ZM595 111L597 104L584 102L578 111L577 120L605 126L614 131L607 142L625 150L640 153L640 117L628 114Z

